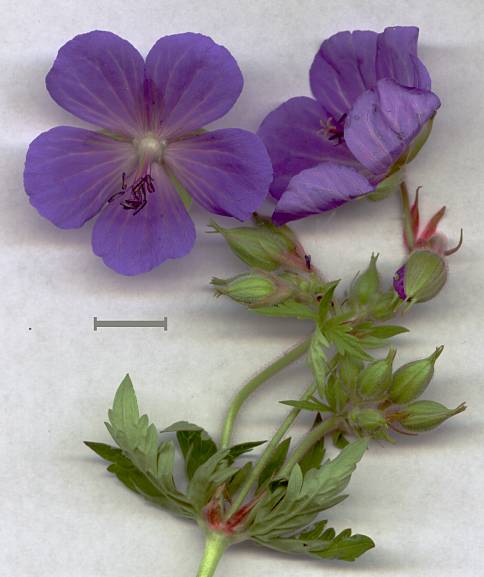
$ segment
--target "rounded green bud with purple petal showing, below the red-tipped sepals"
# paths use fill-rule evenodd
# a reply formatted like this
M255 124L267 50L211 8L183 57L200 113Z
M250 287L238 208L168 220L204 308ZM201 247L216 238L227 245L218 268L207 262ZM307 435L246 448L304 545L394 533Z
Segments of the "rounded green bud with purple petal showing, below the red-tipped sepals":
M398 296L409 302L425 302L436 296L447 281L444 258L432 250L416 250L393 277Z

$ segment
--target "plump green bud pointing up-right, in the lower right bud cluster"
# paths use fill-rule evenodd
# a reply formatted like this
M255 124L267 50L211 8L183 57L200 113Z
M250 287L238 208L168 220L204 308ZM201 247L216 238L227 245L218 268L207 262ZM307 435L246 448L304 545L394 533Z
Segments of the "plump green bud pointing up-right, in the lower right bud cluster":
M432 380L435 361L443 350L444 347L437 347L429 357L407 363L395 372L390 387L390 398L394 403L409 403L420 397Z

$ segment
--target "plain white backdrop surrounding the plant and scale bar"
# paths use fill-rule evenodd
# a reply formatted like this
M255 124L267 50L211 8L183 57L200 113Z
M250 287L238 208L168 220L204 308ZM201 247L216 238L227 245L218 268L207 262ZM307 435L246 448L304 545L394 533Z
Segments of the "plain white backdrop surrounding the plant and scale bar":
M337 529L351 526L376 541L355 564L241 545L218 574L482 575L483 20L478 0L1 2L2 576L194 576L198 529L128 492L82 441L109 441L103 420L127 371L160 428L187 419L217 435L236 388L309 330L213 298L210 277L243 266L221 238L204 233L208 215L199 209L193 252L135 278L116 275L91 253L91 226L63 231L36 213L22 186L26 148L50 127L79 125L45 90L58 48L96 28L144 54L165 34L208 34L231 50L245 76L241 98L217 125L255 130L281 101L309 94L309 65L325 37L397 24L420 26L420 54L443 102L409 186L424 186L425 216L448 206L442 228L452 241L460 227L465 233L444 291L405 319L412 332L396 339L399 360L445 344L426 396L449 406L466 400L469 409L427 435L371 447L351 497L328 513ZM381 253L387 278L403 256L396 197L353 203L295 228L317 265L345 285L372 251ZM93 332L95 315L167 315L169 330ZM299 367L271 381L243 413L237 440L268 438L285 414L276 401L294 398L307 379ZM303 420L296 432L306 426Z

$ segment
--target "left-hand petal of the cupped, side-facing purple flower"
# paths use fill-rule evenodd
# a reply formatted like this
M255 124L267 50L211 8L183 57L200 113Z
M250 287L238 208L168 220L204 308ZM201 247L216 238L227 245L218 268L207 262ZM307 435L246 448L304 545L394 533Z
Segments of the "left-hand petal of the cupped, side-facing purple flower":
M274 167L271 194L279 199L293 176L327 160L357 164L344 143L328 140L326 111L312 98L291 98L271 112L258 134Z

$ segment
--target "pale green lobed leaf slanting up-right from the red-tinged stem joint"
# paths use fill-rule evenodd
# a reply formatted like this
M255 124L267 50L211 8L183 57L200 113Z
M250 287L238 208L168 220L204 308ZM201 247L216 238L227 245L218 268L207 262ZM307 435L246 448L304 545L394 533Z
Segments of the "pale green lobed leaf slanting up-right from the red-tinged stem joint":
M294 467L287 488L279 486L259 503L250 527L251 536L267 540L300 531L320 511L343 500L345 496L341 493L367 444L360 439L348 445L335 459L318 469L310 469L304 476L298 465Z

